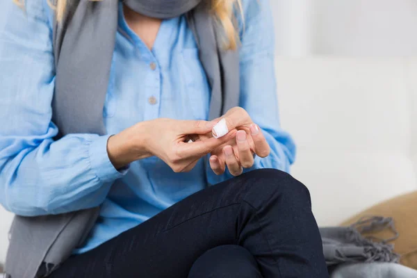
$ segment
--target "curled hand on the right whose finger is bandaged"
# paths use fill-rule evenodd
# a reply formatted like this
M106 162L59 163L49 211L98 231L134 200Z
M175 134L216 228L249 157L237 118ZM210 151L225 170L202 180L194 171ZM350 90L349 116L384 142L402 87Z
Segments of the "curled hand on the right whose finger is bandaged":
M211 152L210 167L215 174L223 174L227 166L232 175L238 176L242 174L243 168L252 167L255 154L260 157L268 156L270 146L245 109L231 108L222 118L229 130L227 136L231 133L236 135ZM215 122L219 120L220 118Z

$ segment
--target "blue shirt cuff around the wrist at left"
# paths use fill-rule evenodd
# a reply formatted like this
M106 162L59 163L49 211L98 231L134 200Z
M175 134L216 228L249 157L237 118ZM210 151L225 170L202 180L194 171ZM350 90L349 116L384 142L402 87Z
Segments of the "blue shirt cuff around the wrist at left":
M107 154L107 140L111 135L99 136L90 143L89 156L92 170L102 182L115 181L123 177L129 167L117 171Z

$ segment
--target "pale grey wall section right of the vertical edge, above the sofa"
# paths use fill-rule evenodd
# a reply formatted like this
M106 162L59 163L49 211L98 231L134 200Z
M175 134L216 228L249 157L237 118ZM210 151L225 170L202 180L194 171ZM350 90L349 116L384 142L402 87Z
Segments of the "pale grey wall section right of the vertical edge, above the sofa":
M417 54L417 1L315 0L313 54Z

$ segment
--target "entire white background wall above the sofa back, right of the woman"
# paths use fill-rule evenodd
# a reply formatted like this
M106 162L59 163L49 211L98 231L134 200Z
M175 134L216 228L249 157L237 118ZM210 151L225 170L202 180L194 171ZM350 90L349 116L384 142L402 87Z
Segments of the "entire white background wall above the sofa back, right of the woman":
M270 1L279 55L417 55L416 0Z

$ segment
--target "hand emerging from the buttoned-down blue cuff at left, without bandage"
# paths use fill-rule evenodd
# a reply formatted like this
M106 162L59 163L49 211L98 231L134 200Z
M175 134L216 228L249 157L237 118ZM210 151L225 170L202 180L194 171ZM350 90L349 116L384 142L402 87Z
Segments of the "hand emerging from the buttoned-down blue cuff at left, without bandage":
M142 158L157 156L174 172L188 172L200 158L236 136L235 132L229 132L219 139L187 142L190 136L211 133L214 124L165 118L139 122L108 139L108 157L116 169Z

